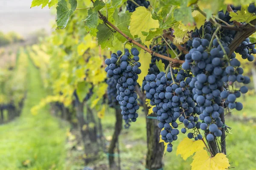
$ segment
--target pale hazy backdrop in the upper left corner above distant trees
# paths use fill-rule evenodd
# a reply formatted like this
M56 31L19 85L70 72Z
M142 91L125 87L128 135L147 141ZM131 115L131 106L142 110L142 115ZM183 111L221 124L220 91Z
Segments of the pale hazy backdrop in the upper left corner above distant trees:
M0 31L16 31L23 36L41 28L51 31L55 16L48 7L30 8L32 0L0 0Z

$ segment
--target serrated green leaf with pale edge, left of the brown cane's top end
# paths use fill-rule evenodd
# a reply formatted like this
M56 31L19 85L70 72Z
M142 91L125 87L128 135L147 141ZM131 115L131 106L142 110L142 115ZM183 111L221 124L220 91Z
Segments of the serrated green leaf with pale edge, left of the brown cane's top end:
M70 16L76 10L77 1L76 0L69 0L71 8L67 7L66 0L60 0L58 2L57 9L57 28L63 29L67 26L67 22L70 19Z

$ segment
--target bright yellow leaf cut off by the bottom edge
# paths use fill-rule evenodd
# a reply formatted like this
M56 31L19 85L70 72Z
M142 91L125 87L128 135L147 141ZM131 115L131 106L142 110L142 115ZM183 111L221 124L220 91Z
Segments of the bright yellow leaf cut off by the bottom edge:
M192 170L226 170L230 164L223 153L217 153L214 157L208 156L206 150L200 150L193 156L190 164Z

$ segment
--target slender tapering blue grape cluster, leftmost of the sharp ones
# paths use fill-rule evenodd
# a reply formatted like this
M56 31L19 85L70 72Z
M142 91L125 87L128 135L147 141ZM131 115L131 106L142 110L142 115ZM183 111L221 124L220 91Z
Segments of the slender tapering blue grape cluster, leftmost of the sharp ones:
M132 57L131 54L134 56ZM131 49L131 54L128 49L125 49L125 54L122 51L111 54L110 59L106 59L105 63L108 65L105 71L108 73L107 77L116 82L117 96L116 100L121 105L123 119L135 122L139 109L137 102L137 94L135 93L135 86L137 85L138 74L141 73L139 61L139 51L136 48Z

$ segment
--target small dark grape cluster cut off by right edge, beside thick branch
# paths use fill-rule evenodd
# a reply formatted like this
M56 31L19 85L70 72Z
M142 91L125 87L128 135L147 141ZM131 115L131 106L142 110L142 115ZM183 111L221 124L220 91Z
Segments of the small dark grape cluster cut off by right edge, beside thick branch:
M242 59L247 59L248 61L253 61L254 57L252 54L256 54L255 45L250 45L250 39L245 39L239 46L236 48L235 52L239 53Z

